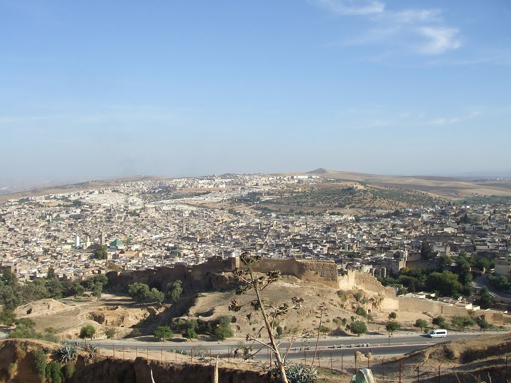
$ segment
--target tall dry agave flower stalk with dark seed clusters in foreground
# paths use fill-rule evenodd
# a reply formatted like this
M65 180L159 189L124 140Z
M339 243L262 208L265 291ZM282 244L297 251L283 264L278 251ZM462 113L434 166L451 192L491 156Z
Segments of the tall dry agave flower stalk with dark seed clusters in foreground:
M301 307L301 304L303 303L304 300L302 298L292 297L291 298L292 302L290 304L265 303L262 298L262 293L270 284L280 279L281 272L275 270L267 272L266 276L255 275L255 273L253 272L253 268L257 266L259 262L261 262L261 255L250 255L248 253L243 253L240 256L240 261L242 262L244 268L236 268L235 270L233 270L233 276L240 283L238 289L236 290L236 294L243 295L247 291L253 291L253 293L255 294L255 299L245 304L250 304L250 306L254 310L259 311L264 321L264 326L261 327L260 330L255 334L248 333L246 335L246 340L252 341L252 345L254 342L257 342L262 347L268 347L273 352L276 358L276 366L281 375L281 379L284 383L288 383L284 360L287 357L287 354L289 353L291 345L293 344L294 341L289 342L289 346L286 349L286 352L283 357L278 348L279 344L275 340L275 336L273 334L273 325L276 322L277 317L287 314L291 312L291 310L293 309L298 309L299 307ZM238 300L233 299L231 300L231 303L228 308L231 311L238 312L241 309L241 307L242 306L240 305ZM268 337L270 340L269 343L265 343L258 339L258 336L260 336L261 331L263 329L266 329L266 332L268 333ZM249 351L247 351L247 356L248 357L251 356L251 353Z

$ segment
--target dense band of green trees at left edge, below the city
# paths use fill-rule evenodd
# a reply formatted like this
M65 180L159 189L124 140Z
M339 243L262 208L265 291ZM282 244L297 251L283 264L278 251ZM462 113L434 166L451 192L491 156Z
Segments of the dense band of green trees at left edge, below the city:
M95 275L83 281L60 281L52 268L46 278L36 278L32 282L20 283L16 275L5 271L0 275L0 304L4 308L14 309L19 305L39 299L61 299L73 295L83 295L91 290L97 299L101 297L103 286L108 283L104 275Z

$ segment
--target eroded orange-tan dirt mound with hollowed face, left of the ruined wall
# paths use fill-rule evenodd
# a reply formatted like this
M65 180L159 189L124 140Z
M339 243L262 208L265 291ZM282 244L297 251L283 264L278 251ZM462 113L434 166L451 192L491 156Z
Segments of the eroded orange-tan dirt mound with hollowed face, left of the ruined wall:
M122 308L116 306L115 308L107 307L105 309L92 311L87 314L87 319L102 325L131 327L155 314L156 310L153 307Z

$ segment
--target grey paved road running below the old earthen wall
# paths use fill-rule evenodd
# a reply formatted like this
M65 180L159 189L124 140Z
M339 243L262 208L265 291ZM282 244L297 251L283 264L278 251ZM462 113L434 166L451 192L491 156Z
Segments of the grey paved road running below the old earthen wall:
M503 333L500 332L487 332L486 336L492 336L494 333ZM465 332L465 333L449 333L447 338L427 338L422 334L399 334L390 337L387 336L365 336L365 337L336 337L336 338L326 338L319 340L319 349L323 352L323 354L330 355L332 352L333 356L338 356L342 354L352 355L355 351L360 352L368 352L369 349L373 350L373 354L376 356L390 356L390 355L402 355L407 352L417 350L423 347L430 346L432 344L445 342L446 340L455 340L455 339L464 339L464 338L472 338L477 337L481 333L480 332ZM203 342L203 341L194 341L194 342L179 342L177 340L171 340L167 342L143 342L143 341L134 341L132 339L127 340L102 340L98 342L100 348L111 350L112 344L115 345L115 349L119 350L125 347L126 349L134 350L137 348L138 350L147 350L149 351L160 351L175 349L175 348L183 348L190 350L192 348L195 349L203 349L211 351L212 354L227 354L230 351L233 351L236 348L240 347L240 341L225 341L225 342ZM290 358L300 359L304 358L305 354L309 354L309 357L312 356L312 350L314 349L315 340L309 339L308 341L296 342L293 345L292 351L290 353ZM336 348L333 346L336 345ZM341 346L342 345L342 346ZM359 346L360 345L360 346ZM255 348L256 345L254 345ZM281 349L285 349L287 344L282 344ZM339 348L339 346L341 346ZM301 347L301 349L300 349ZM309 351L307 351L307 347L309 347ZM257 357L258 359L265 360L267 358L266 352L262 351L260 355Z

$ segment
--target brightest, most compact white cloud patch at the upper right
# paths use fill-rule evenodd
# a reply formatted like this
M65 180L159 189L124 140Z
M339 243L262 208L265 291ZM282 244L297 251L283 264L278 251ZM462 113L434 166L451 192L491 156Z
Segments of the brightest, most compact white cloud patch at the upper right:
M440 55L461 46L459 30L456 28L421 27L417 31L426 38L417 52L424 55Z

